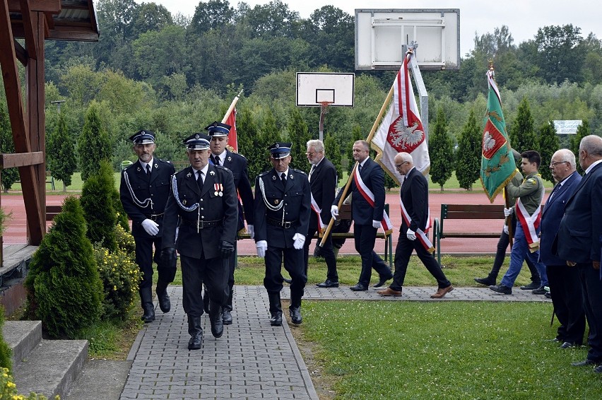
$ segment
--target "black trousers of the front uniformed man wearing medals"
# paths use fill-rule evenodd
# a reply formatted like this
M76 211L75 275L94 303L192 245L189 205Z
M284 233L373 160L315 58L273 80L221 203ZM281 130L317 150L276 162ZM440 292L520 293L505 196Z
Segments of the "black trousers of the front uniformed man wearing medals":
M180 254L182 264L182 305L189 317L203 315L203 283L208 288L209 300L223 306L228 298L228 259L195 259Z

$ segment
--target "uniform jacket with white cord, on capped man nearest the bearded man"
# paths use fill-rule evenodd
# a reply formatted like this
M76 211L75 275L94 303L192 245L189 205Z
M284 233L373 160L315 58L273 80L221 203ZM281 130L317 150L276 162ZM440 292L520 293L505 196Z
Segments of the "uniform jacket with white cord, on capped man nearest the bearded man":
M264 182L263 189L260 180ZM266 201L272 207L278 207L283 202L284 205L278 211L273 211L266 206ZM266 240L268 246L293 247L295 233L307 235L311 206L311 193L305 172L289 168L286 187L276 169L260 174L255 180L255 242ZM283 221L288 228L273 225Z

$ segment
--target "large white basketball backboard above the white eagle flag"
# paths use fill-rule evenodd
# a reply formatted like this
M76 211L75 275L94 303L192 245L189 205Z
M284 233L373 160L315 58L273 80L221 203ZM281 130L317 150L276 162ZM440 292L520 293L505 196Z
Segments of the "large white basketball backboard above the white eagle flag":
M399 69L411 42L420 69L459 69L459 8L355 10L356 70Z

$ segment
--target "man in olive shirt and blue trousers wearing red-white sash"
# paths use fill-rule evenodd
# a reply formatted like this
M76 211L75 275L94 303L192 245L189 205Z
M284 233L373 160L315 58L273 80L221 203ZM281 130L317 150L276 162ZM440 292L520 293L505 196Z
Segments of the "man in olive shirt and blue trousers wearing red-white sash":
M517 203L510 208L504 208L504 216L508 217L516 213L517 232L514 233L514 246L510 252L510 266L502 278L500 285L492 285L489 288L497 293L512 295L512 286L519 276L526 257L535 264L541 277L541 287L548 286L548 275L539 259L539 223L541 221L541 201L545 189L543 181L538 174L541 156L537 151L529 150L521 153L521 169L525 174L523 183L516 187L512 182L507 184L509 196L517 197ZM533 291L534 294L538 294ZM543 293L541 293L543 294Z

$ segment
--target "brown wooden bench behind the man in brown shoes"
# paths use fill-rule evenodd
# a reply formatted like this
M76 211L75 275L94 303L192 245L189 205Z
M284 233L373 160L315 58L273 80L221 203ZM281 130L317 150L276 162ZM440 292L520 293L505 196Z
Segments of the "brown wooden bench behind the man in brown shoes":
M443 222L447 219L503 220L504 206L502 204L442 204L441 218L435 218L435 222L432 225L432 242L437 250L439 265L441 265L441 240L445 237L490 239L500 237L501 233L501 230L497 230L497 232L446 232L443 230ZM501 225L498 228L501 228Z

